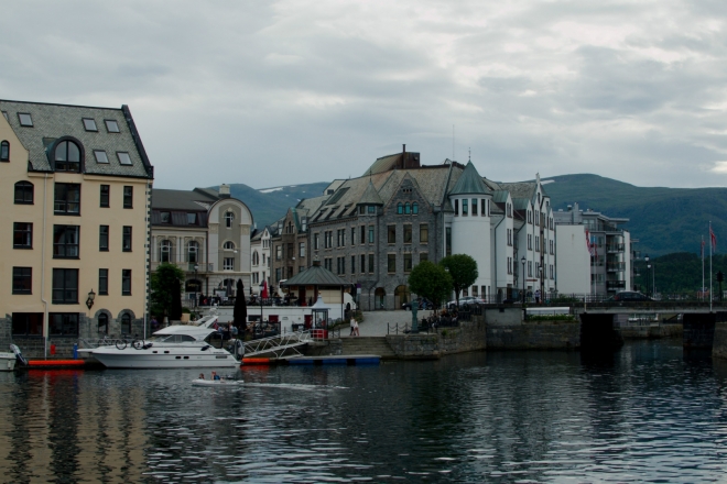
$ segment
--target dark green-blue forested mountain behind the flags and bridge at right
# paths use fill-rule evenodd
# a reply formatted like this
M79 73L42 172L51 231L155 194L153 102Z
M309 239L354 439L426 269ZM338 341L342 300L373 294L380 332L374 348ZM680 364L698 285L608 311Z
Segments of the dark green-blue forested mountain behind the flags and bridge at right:
M577 201L582 210L630 219L623 227L639 240L641 255L698 253L702 235L709 243L710 220L718 243L727 243L727 188L637 187L589 174L543 182L554 210L567 210Z

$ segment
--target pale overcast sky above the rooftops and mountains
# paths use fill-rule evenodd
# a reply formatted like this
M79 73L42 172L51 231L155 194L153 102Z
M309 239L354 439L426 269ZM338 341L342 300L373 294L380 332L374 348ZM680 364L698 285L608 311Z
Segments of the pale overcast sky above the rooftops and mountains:
M0 98L128 105L159 188L471 157L727 186L724 0L0 0Z

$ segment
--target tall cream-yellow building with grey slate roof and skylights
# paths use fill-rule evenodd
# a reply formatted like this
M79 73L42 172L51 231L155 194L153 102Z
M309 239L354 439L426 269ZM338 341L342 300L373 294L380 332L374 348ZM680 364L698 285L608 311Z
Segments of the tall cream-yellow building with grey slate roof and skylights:
M141 334L153 167L129 108L0 110L2 344L39 355Z

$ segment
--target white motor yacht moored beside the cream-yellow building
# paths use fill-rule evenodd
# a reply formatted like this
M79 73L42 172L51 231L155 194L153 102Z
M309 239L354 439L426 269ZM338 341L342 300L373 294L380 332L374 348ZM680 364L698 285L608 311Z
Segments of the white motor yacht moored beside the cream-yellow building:
M207 369L235 367L243 354L242 341L235 341L235 353L215 348L221 340L217 316L207 316L189 324L174 324L154 332L147 341L127 345L117 343L86 350L109 369Z

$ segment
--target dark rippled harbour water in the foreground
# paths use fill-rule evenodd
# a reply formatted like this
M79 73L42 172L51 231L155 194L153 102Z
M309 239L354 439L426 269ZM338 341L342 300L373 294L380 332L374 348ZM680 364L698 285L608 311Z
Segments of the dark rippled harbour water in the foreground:
M727 471L727 363L685 355L680 340L594 360L249 366L239 388L193 387L198 374L0 374L0 481L709 482Z

